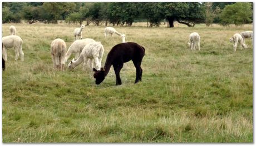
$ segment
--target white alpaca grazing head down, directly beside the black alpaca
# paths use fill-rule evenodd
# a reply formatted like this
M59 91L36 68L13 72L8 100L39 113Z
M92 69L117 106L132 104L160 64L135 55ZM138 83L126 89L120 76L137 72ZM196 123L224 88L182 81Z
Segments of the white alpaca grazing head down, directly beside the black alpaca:
M83 48L79 58L75 61L71 61L68 63L68 69L73 70L76 66L82 63L83 61L83 68L86 68L87 62L89 62L90 67L93 68L93 60L94 66L96 69L100 69L101 67L101 60L104 54L104 47L102 46L101 42L93 42L86 44L85 48Z

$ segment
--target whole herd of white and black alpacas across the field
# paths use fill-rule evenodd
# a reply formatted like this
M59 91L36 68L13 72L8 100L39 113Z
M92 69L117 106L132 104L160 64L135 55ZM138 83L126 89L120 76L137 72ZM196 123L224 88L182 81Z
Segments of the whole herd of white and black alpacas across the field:
M82 30L85 25L81 25L80 28L75 28L74 36L75 41L68 48L66 47L65 41L63 39L57 38L51 43L51 56L53 61L53 69L64 71L65 63L67 63L68 58L71 54L75 54L75 58L68 63L68 70L73 71L76 66L83 62L83 68L85 69L87 64L89 64L92 71L95 73L93 77L96 79L95 83L100 84L109 73L111 66L114 67L116 75L116 85L121 85L120 71L124 66L124 63L132 61L136 68L136 79L135 83L141 81L142 68L141 62L145 55L145 48L134 42L126 42L125 34L119 33L113 27L106 27L104 31L104 36L107 37L108 34L117 34L121 37L122 43L116 44L112 47L105 61L105 66L101 68L101 61L104 54L104 47L101 42L96 42L91 38L82 39ZM16 28L14 26L9 27L10 36L2 38L2 69L6 69L7 62L7 48L14 48L15 61L17 61L19 55L21 56L21 61L24 61L24 53L22 51L22 39L16 36ZM237 49L238 43L240 43L240 49L248 48L245 44L245 38L253 39L253 31L246 31L242 33L235 33L230 39L233 42L234 52ZM198 49L200 51L200 36L198 33L193 32L189 35L188 45L191 50ZM93 66L94 64L94 66Z

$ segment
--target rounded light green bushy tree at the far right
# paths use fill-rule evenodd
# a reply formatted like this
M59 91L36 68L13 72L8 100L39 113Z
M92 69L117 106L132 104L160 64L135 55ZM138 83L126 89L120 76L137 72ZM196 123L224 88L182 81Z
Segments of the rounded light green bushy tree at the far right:
M220 24L229 26L235 24L242 26L245 23L252 22L252 4L251 3L235 3L226 6L220 14Z

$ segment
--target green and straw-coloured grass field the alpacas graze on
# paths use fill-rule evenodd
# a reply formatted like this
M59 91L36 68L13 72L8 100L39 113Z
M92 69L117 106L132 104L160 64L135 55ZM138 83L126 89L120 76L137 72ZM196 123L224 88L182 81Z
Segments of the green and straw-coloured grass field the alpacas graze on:
M3 72L3 143L41 142L253 142L253 42L233 52L229 38L253 29L205 27L116 27L126 41L146 49L142 82L126 63L122 85L114 69L100 85L82 64L73 72L53 71L50 44L73 42L75 25L14 24L23 39L24 62L8 49ZM9 35L2 25L2 35ZM104 26L86 26L83 38L101 41L107 53L121 43L104 38ZM191 32L200 34L200 51L191 51ZM72 56L70 59L72 59ZM69 62L69 61L68 61ZM67 65L67 64L66 64Z

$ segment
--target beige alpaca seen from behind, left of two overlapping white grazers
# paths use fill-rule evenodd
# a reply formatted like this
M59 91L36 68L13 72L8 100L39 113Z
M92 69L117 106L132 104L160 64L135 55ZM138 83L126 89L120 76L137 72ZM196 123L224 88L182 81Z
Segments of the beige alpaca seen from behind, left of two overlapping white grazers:
M58 69L64 71L65 66L65 53L66 53L66 43L57 38L51 43L51 55L53 62L53 69Z

